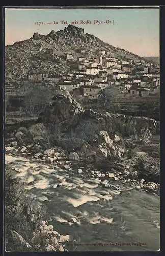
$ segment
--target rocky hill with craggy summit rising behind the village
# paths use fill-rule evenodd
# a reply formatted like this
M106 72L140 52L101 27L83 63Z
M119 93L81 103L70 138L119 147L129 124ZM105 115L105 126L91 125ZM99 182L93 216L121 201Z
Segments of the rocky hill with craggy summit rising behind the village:
M85 56L96 57L96 50L111 52L112 57L123 59L142 59L124 49L111 46L98 37L84 33L84 29L68 25L64 30L51 31L47 35L34 33L27 40L6 46L6 79L20 80L26 77L30 69L48 69L52 73L65 73L72 62L66 62L65 52L71 52L73 60L82 56L79 49L85 50Z

